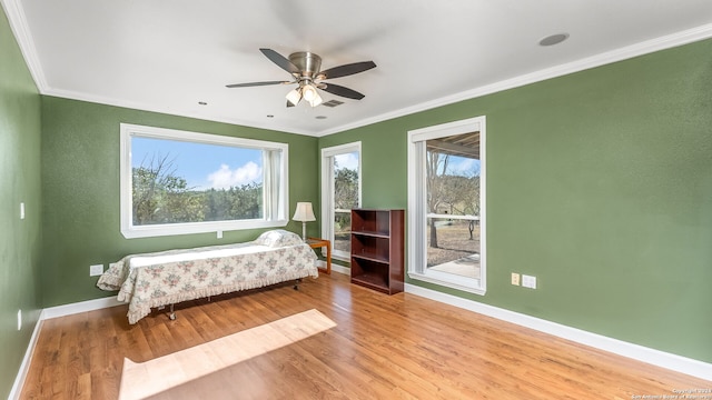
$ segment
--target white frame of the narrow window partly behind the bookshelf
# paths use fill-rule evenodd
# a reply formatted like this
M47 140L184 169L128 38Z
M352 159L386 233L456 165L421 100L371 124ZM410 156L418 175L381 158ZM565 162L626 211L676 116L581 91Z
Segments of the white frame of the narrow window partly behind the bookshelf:
M332 258L348 261L350 254L334 249L334 162L339 154L358 152L358 207L362 204L362 151L360 141L322 149L322 237L332 241Z

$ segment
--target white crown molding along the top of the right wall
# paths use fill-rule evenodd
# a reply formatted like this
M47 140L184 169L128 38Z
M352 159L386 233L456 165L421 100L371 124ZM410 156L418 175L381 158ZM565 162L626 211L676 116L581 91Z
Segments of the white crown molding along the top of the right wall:
M704 24L693 29L688 29L688 30L680 31L665 37L646 40L644 42L631 44L631 46L615 49L612 51L606 51L604 53L587 57L585 59L572 61L568 63L552 67L552 68L546 68L546 69L531 72L527 74L518 76L512 79L506 79L492 84L486 84L479 88L465 90L459 93L446 96L432 101L426 101L424 103L419 103L413 107L407 107L400 110L386 112L372 118L366 118L353 123L343 124L336 128L320 131L315 136L324 137L333 133L344 132L349 129L356 129L356 128L365 127L372 123L387 121L394 118L431 110L442 106L452 104L458 101L469 100L469 99L478 98L485 94L492 94L503 90L514 89L514 88L523 87L525 84L541 82L552 78L563 77L570 73L580 72L583 70L605 66L605 64L617 62L617 61L623 61L634 57L649 54L655 51L661 51L661 50L671 49L671 48L683 46L683 44L689 44L689 43L700 41L700 40L705 40L709 38L712 38L712 23Z

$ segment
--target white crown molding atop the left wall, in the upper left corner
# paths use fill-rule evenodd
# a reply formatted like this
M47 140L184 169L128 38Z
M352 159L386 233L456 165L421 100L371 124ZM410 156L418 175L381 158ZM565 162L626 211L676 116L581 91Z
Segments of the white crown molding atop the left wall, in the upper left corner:
M20 51L24 58L30 74L34 80L34 84L40 93L44 93L49 89L47 80L44 79L44 72L42 71L42 64L32 40L32 33L27 24L27 18L24 17L24 10L20 4L20 0L0 0L2 8L4 9L8 21L10 22L10 29L20 46Z

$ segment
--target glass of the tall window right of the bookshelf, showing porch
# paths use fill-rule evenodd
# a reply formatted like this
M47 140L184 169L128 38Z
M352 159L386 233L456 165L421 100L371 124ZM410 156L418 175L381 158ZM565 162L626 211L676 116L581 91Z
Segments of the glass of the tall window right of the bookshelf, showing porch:
M426 141L427 268L479 279L478 133Z

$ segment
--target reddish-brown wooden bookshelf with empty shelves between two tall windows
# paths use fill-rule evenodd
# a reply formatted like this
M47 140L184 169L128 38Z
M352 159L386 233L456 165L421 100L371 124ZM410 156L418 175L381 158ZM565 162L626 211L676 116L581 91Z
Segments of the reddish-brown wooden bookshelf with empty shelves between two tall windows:
M404 210L352 210L352 283L403 291Z

